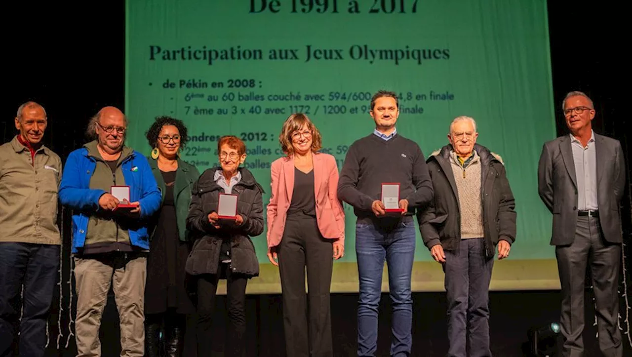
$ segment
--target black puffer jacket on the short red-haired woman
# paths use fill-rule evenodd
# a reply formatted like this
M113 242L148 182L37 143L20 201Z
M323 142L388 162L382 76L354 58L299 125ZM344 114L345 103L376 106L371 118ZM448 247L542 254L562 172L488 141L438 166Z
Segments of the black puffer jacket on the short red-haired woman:
M241 181L233 187L232 193L239 196L237 214L243 217L243 224L239 227L216 229L209 222L209 214L217 212L219 193L224 192L214 180L217 170L218 168L213 168L204 171L191 190L186 228L193 233L196 240L186 260L186 272L191 275L217 274L222 241L229 239L232 271L248 277L258 276L259 262L250 237L258 236L264 231L264 190L255 181L252 172L240 168Z

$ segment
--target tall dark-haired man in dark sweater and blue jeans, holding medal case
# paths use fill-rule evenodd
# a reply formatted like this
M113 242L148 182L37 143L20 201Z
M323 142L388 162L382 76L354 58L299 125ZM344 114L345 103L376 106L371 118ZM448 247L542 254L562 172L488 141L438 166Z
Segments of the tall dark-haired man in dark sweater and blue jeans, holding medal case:
M377 92L371 99L370 114L375 130L349 147L338 183L338 198L352 205L358 217L358 356L374 356L377 349L377 309L385 259L393 310L391 356L408 356L413 320L413 216L416 209L432 200L432 182L422 150L397 133L397 95ZM381 200L382 183L399 183L401 214L386 212Z

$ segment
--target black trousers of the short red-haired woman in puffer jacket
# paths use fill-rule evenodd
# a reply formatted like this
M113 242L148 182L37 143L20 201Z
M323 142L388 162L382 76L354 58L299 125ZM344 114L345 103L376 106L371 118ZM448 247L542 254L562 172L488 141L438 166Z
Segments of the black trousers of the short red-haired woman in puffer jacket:
M246 332L246 284L245 275L231 272L228 263L220 263L218 274L198 276L198 322L197 345L198 356L211 356L213 335L213 313L215 311L217 282L226 277L228 298L228 330L224 344L224 356L243 357L243 336Z

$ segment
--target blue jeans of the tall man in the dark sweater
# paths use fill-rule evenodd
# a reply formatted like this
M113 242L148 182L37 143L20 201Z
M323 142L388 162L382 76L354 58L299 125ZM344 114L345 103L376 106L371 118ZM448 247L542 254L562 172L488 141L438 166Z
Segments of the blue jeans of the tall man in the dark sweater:
M374 356L377 349L377 309L382 293L385 259L393 310L391 356L410 355L413 340L410 278L415 259L415 221L408 218L410 217L398 220L391 226L364 222L356 224L356 254L360 278L358 356Z

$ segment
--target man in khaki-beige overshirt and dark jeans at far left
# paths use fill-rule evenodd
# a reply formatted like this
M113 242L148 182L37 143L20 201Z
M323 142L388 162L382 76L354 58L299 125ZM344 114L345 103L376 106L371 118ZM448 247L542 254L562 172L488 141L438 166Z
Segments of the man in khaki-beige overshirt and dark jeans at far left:
M44 107L18 108L19 133L0 145L0 356L44 356L59 269L61 159L42 143ZM19 337L18 337L19 335Z

